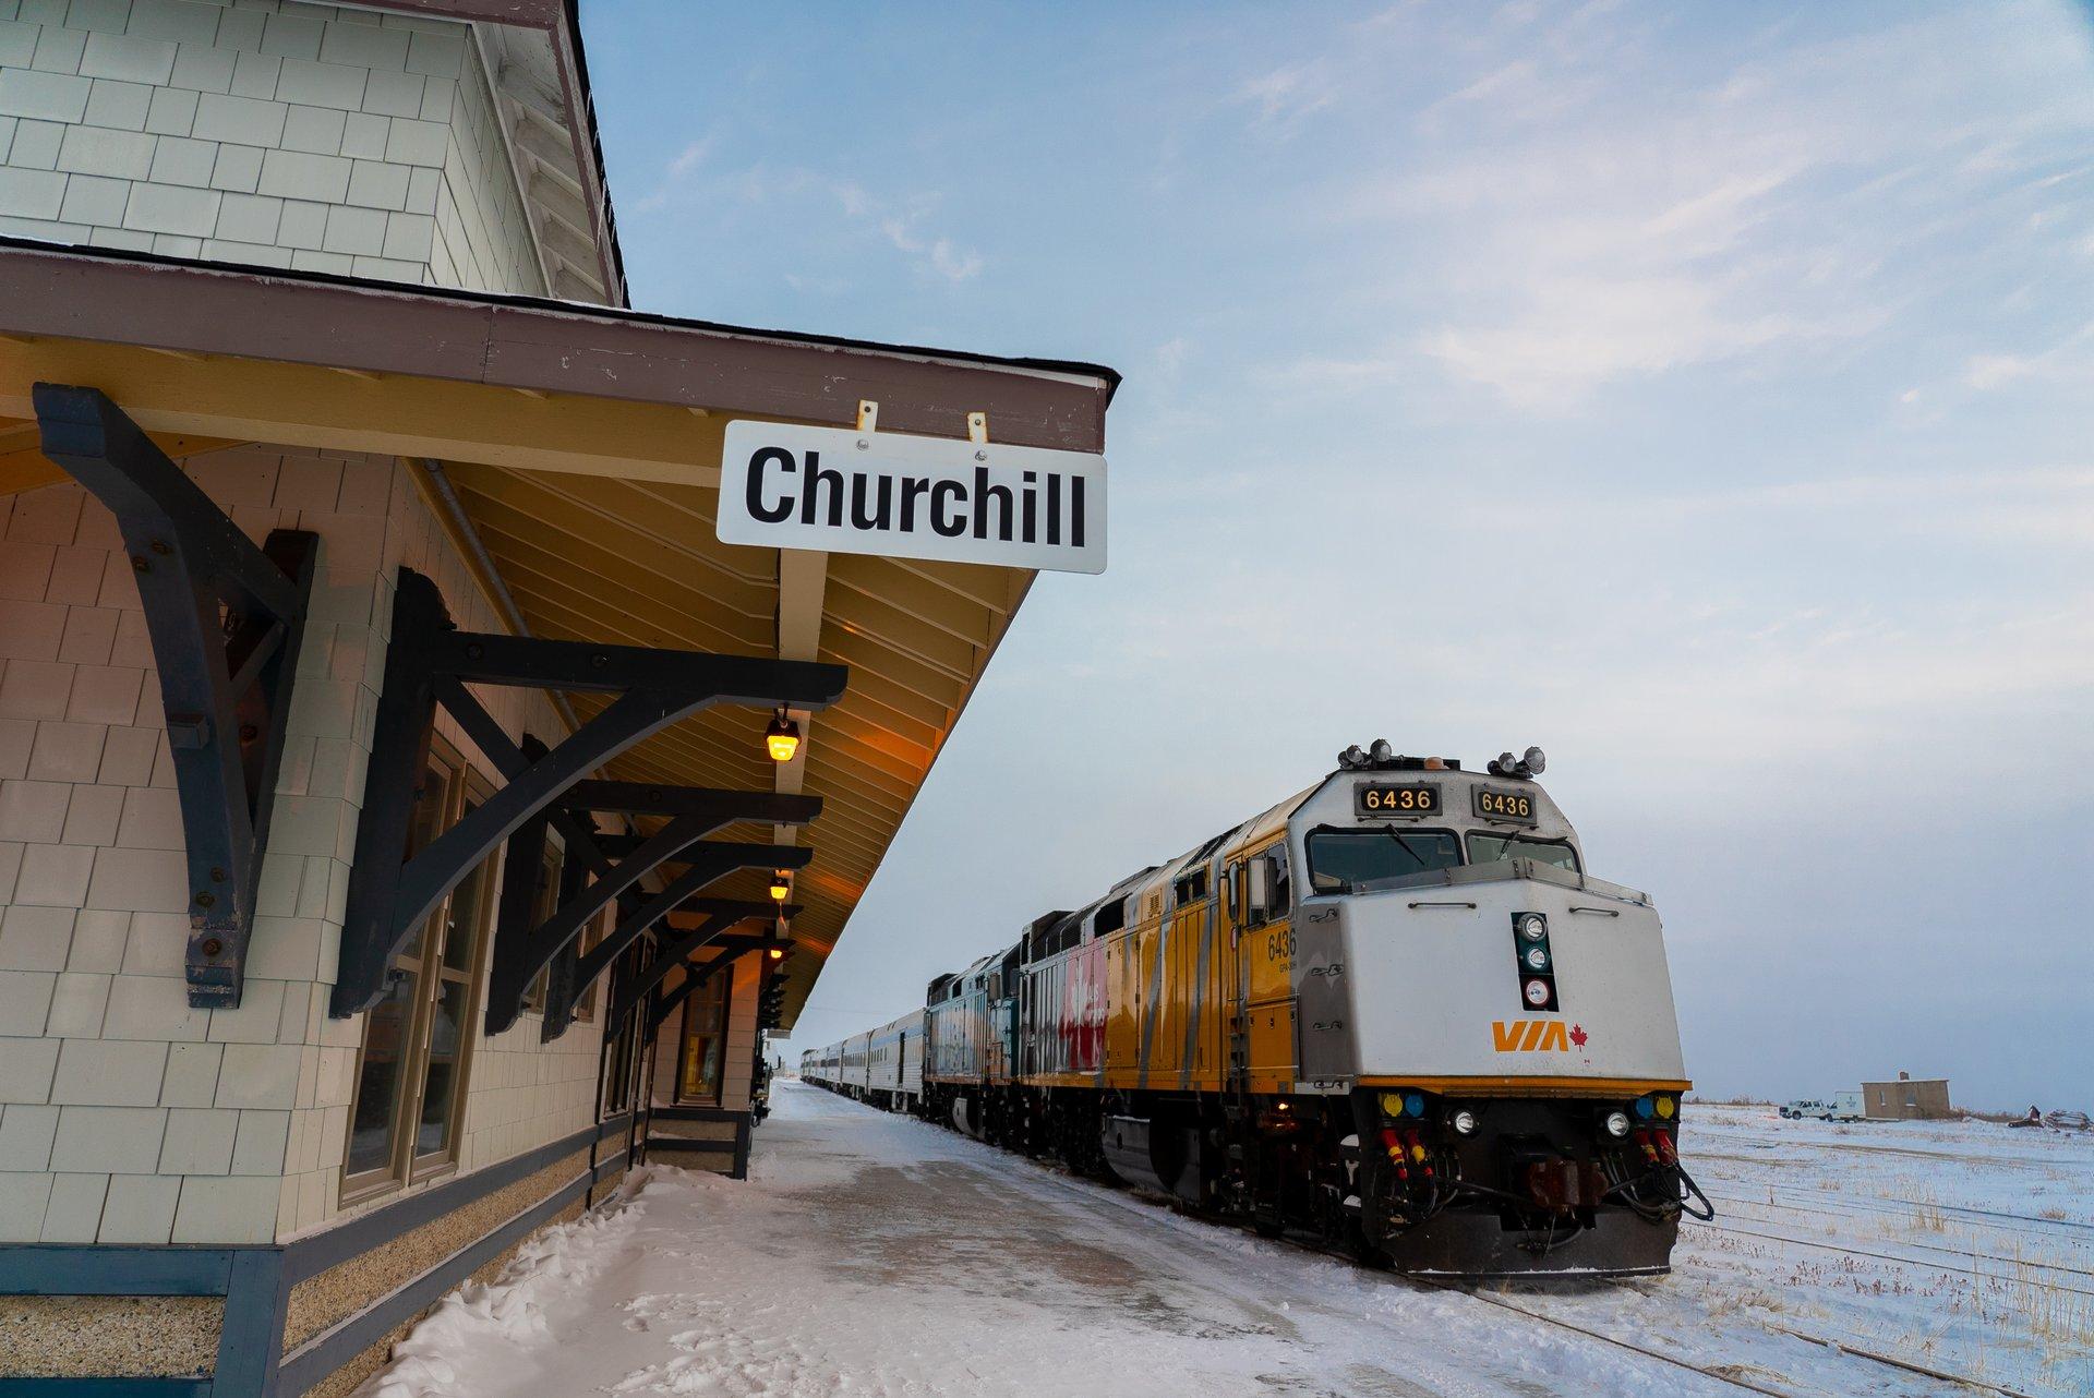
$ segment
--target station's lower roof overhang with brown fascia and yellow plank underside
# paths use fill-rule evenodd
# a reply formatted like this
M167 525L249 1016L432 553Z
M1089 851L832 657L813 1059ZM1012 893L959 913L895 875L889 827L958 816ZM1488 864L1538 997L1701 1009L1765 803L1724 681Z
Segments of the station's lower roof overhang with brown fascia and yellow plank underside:
M1110 368L0 241L0 494L63 479L29 387L103 389L170 456L249 442L442 465L530 632L850 668L802 756L712 709L607 774L825 802L796 881L825 956L1032 582L1030 571L716 538L729 419L1104 450ZM574 697L582 720L595 712ZM768 827L722 831L771 839ZM750 881L762 879L752 873ZM727 885L725 896L750 889ZM754 896L762 896L760 883ZM794 973L787 1023L812 986Z

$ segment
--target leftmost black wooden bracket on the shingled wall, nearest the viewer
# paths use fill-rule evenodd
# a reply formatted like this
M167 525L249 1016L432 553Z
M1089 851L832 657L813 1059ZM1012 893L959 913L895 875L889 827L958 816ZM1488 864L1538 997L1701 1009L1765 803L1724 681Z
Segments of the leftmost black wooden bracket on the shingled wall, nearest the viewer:
M168 709L188 852L188 1002L241 1002L318 540L255 548L101 389L31 389L44 456L117 517Z

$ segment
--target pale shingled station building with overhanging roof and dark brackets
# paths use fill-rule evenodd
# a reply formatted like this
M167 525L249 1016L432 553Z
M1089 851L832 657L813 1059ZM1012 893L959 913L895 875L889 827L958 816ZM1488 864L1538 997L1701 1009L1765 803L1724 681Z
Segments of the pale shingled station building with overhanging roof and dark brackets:
M722 452L1114 387L630 310L563 0L0 0L0 1388L348 1392L739 1174L1034 569L722 542Z

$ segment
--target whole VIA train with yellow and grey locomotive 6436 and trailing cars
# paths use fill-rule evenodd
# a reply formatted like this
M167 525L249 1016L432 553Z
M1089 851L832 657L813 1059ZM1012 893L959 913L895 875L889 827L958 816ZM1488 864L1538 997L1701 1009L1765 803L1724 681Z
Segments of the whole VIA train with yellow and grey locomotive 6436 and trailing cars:
M1663 1272L1709 1212L1665 940L1541 770L1349 747L800 1074L1407 1272Z

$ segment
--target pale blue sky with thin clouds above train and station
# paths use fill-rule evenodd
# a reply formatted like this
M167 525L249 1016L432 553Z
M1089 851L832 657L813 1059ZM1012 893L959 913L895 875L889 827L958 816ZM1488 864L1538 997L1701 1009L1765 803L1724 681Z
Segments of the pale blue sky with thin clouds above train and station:
M634 306L1124 375L787 1055L1386 737L1702 1092L2094 1107L2088 8L580 8Z

